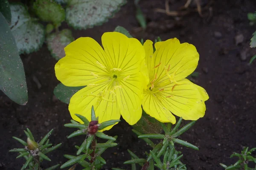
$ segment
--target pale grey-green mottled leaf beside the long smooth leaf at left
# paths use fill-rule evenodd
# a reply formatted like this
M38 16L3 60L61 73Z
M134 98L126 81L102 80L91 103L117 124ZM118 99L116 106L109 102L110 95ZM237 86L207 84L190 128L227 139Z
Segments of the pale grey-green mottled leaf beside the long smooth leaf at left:
M30 17L27 7L11 4L12 24L10 25L20 54L37 51L44 43L44 26Z

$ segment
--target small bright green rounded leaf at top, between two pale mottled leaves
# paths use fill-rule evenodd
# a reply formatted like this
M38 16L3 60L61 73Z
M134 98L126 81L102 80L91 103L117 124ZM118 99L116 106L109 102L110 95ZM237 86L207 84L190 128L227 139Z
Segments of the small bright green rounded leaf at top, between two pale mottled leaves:
M53 0L36 0L33 4L35 14L44 22L58 26L65 20L65 10Z

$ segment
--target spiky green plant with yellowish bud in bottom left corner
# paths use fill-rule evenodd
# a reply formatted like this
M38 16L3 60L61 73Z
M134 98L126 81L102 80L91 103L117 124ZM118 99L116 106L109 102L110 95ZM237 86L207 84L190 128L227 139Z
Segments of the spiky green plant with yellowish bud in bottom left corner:
M28 128L24 130L27 136L27 142L17 137L13 137L13 139L16 139L18 142L20 142L25 146L24 148L15 148L15 149L9 150L9 152L20 153L20 155L17 156L17 158L24 157L26 159L26 162L21 167L21 170L41 169L40 164L43 161L43 159L47 161L51 161L51 159L49 159L48 156L46 156L45 154L52 152L53 150L61 146L61 143L55 145L54 147L51 147L52 144L49 144L48 137L52 133L52 131L53 129L50 130L49 133L47 133L39 143L35 142L35 139ZM55 170L58 166L59 164L56 164L52 167L47 168L46 170Z

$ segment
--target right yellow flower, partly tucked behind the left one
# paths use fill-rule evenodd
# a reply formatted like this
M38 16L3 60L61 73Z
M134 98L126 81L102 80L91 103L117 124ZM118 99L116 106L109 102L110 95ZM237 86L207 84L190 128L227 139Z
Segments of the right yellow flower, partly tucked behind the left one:
M204 101L209 99L204 88L188 79L198 65L199 54L194 45L180 44L176 38L144 43L145 61L150 82L143 92L143 109L160 122L176 123L175 114L185 120L204 116ZM172 112L172 113L171 113Z

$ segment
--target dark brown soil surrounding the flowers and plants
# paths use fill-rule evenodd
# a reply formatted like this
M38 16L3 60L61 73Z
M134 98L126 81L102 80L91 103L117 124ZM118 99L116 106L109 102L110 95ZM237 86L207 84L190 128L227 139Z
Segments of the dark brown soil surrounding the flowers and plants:
M185 0L170 2L171 9L177 9ZM235 159L229 158L233 151L239 152L242 146L256 147L256 61L248 64L250 57L256 54L256 50L249 47L256 28L249 26L247 20L247 13L256 10L256 1L216 0L203 12L206 17L202 18L197 12L191 12L180 20L154 12L154 8L165 8L164 4L164 0L140 1L148 22L145 31L139 28L135 18L136 8L133 0L129 0L108 23L85 31L73 30L73 36L92 37L100 42L104 32L113 31L119 25L127 28L137 38L154 40L160 36L162 40L166 40L177 37L181 42L195 45L200 54L196 70L199 77L195 78L195 83L207 90L209 100L206 102L204 118L199 119L181 136L181 139L195 144L200 150L180 146L177 150L182 151L182 162L187 165L188 170L222 170L219 163L229 165L235 162ZM62 28L67 26L63 24ZM239 34L244 39L236 44L235 37ZM246 53L245 57L241 57L243 53ZM17 105L0 93L0 170L18 170L24 163L22 158L15 159L17 153L10 153L8 150L22 147L12 136L25 140L23 130L26 127L29 127L38 140L53 128L51 142L63 144L49 155L52 161L49 164L44 162L42 166L45 168L56 163L63 164L67 161L63 154L75 155L74 145L80 145L82 138L67 139L67 135L73 130L63 126L71 119L68 105L53 95L53 89L58 84L54 73L56 60L50 56L46 45L32 54L21 55L21 58L26 73L29 102L25 106ZM124 121L107 133L118 135L119 145L105 152L103 157L108 163L103 169L131 169L122 164L130 159L127 149L141 158L150 149L144 141L137 139ZM81 167L76 169L80 170Z

